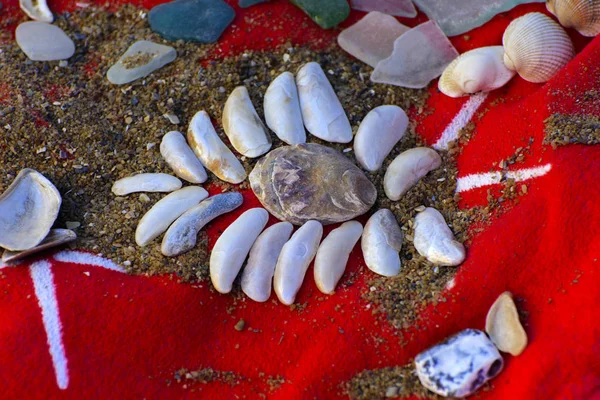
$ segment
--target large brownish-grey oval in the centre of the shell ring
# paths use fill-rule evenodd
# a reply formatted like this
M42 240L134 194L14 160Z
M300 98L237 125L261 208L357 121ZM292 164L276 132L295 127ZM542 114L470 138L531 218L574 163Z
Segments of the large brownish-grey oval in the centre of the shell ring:
M345 222L366 213L377 190L338 151L314 143L284 146L260 159L250 186L275 217L302 225Z

